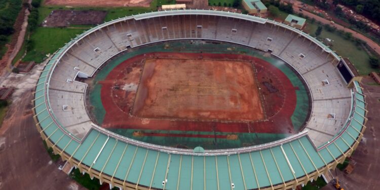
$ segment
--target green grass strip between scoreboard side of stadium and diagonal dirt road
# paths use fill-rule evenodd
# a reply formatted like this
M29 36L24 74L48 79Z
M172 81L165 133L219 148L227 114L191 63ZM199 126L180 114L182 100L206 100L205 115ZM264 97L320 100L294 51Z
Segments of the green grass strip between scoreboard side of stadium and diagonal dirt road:
M315 36L314 33L318 28L318 24L311 22L307 23L308 25L305 30ZM372 71L378 72L380 70L371 68L369 65L369 55L362 47L357 46L350 40L346 40L345 37L337 31L330 32L323 28L319 37L321 39L331 39L333 41L331 42L331 49L336 51L338 55L349 58L361 75L368 75Z

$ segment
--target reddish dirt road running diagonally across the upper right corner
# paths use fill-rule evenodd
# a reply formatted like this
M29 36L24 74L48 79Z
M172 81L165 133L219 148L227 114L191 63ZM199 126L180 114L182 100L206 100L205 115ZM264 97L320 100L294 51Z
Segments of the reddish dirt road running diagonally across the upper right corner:
M334 27L336 27L336 29L338 29L338 30L343 30L343 31L345 31L345 32L350 32L350 33L352 33L352 36L354 36L354 37L356 37L357 39L360 39L360 40L366 42L367 45L368 45L369 47L371 47L371 48L372 48L377 54L380 55L380 46L379 46L378 44L376 44L375 42L373 42L373 41L372 41L371 39L369 39L368 37L364 36L364 35L361 34L361 33L356 32L356 31L354 31L354 30L352 30L352 29L350 29L350 28L346 28L346 27L344 27L344 26L342 26L342 25L339 25L339 24L336 24L336 23L335 23L335 24L331 24L329 20L324 19L324 18L322 18L322 17L320 17L320 16L317 16L317 15L315 15L315 14L313 14L313 13L307 12L307 11L305 11L305 10L300 11L300 10L299 10L299 7L302 7L301 4L302 4L302 2L294 1L294 0L293 0L293 10L294 10L295 13L298 13L298 14L299 14L299 13L302 13L303 15L306 15L306 16L308 16L309 18L314 18L316 21L319 21L319 22L321 22L321 23L323 23L323 24L329 24L329 25L331 25L331 26L334 26Z

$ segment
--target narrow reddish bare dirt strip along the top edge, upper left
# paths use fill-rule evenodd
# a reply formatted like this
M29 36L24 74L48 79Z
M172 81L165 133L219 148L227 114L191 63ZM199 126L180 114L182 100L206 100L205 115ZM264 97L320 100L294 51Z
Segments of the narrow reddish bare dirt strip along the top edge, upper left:
M153 0L46 0L45 5L73 7L149 7Z

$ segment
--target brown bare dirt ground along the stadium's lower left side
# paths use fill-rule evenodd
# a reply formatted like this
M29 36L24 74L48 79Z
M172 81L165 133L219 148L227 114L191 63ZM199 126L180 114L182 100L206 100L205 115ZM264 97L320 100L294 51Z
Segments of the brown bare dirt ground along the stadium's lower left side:
M0 86L16 88L0 128L0 189L84 189L58 170L35 128L32 91L42 69L43 64L29 74L0 77Z

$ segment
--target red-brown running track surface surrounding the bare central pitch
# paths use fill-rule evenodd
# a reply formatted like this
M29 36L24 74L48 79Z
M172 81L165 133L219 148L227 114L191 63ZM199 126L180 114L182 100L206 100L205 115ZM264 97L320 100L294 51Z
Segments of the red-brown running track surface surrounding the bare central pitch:
M195 121L190 119L155 119L133 116L132 108L144 60L151 58L240 60L252 63L265 110L259 121ZM247 64L247 63L245 63ZM251 56L206 53L150 53L135 56L119 64L101 82L101 100L106 111L102 127L136 130L219 131L229 133L296 133L290 117L296 106L295 88L277 67ZM132 85L133 84L133 85ZM252 84L254 85L254 84ZM124 89L124 90L122 90Z

